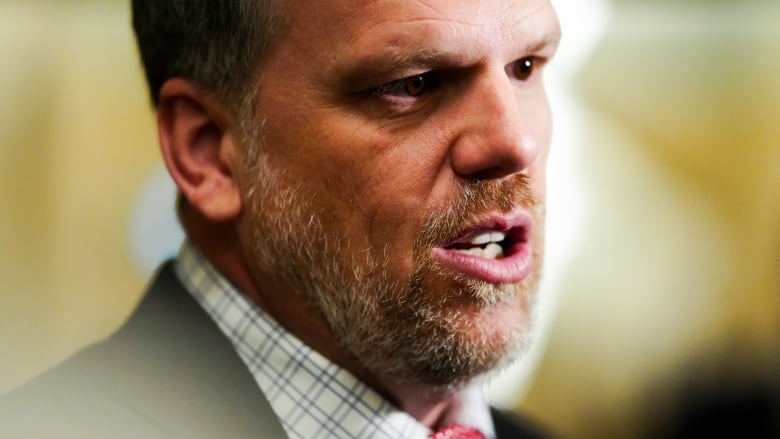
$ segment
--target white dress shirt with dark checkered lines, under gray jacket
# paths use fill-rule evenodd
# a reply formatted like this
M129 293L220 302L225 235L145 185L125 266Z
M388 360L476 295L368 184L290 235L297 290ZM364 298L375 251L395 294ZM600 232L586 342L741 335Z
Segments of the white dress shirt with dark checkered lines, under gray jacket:
M185 242L176 273L230 339L291 439L426 438L431 431L349 371L288 332ZM473 396L473 395L472 395ZM469 419L494 436L481 393L465 398ZM476 416L475 416L476 414Z

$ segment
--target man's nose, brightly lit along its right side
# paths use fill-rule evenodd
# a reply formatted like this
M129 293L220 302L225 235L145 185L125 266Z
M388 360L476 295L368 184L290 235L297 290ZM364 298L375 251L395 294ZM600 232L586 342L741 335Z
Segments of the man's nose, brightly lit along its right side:
M468 179L499 179L527 169L540 151L537 133L549 118L546 99L518 91L503 71L474 83L457 111L453 170Z

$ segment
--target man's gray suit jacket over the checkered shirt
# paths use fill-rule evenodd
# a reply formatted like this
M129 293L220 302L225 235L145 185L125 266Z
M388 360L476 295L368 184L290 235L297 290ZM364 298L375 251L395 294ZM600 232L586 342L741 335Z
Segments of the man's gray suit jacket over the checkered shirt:
M493 410L499 438L541 437ZM173 272L159 271L108 340L0 399L2 438L284 438L230 342Z

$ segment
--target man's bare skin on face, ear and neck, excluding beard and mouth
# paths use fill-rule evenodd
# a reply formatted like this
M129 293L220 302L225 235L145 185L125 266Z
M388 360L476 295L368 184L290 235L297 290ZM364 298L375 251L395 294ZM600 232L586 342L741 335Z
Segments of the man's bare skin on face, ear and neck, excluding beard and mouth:
M163 86L159 131L188 200L182 222L203 254L266 312L434 426L452 392L362 364L300 286L257 263L263 213L250 206L268 205L269 195L257 190L253 172L269 167L279 187L295 188L321 229L340 238L340 254L356 271L372 271L360 256L369 254L388 262L391 281L408 282L419 268L421 228L465 183L499 187L522 178L528 197L544 199L551 129L541 72L559 39L555 13L546 0L296 1L289 13L289 31L271 47L257 83L255 125L262 128L251 141L262 160L247 154L246 133L213 95L180 78ZM530 74L516 69L528 60ZM541 265L540 211L528 212L537 255L529 277ZM506 214L496 205L473 220ZM423 256L435 261L434 251L426 247L431 254ZM457 274L423 270L422 283L431 301L445 299L444 314L479 328L459 337L518 330L532 283L496 287L512 294L486 304L452 294L461 285Z

